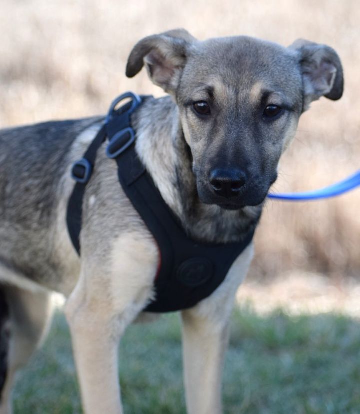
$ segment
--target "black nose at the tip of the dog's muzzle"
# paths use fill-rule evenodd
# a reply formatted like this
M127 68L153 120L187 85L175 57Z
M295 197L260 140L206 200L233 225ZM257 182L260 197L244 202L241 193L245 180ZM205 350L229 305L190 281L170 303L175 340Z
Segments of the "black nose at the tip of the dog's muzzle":
M210 184L217 195L236 197L246 184L246 175L238 169L214 169L210 173Z

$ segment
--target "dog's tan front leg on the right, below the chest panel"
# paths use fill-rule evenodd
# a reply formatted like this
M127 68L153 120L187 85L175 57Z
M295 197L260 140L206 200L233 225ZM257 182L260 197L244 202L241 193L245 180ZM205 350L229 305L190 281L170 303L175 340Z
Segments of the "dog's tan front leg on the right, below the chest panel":
M182 312L188 414L222 412L221 377L228 324L236 290L247 273L252 256L250 245L236 259L225 281L211 296Z

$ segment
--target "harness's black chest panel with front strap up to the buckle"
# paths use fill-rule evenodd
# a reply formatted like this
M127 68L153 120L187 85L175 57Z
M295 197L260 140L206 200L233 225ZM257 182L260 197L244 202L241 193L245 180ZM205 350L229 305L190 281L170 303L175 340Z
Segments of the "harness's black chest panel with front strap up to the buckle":
M194 306L225 279L239 254L250 244L255 228L241 242L210 244L191 239L164 202L136 152L129 149L116 158L124 192L154 236L161 252L155 280L156 299L150 312L170 312Z

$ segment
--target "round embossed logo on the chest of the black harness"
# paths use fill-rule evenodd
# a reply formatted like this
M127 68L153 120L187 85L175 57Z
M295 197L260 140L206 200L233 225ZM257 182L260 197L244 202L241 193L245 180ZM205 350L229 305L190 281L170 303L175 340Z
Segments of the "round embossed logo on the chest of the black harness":
M209 280L213 273L213 264L205 257L194 257L180 264L177 280L186 286L196 287Z

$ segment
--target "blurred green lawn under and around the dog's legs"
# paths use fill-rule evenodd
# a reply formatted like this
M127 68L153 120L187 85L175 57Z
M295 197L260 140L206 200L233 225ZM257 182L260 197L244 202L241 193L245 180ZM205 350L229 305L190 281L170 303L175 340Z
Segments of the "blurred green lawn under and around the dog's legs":
M359 322L338 314L236 310L224 373L226 414L355 414ZM126 414L184 414L177 315L131 326L120 345ZM201 392L201 390L199 390ZM68 328L57 314L14 391L15 413L81 412Z

